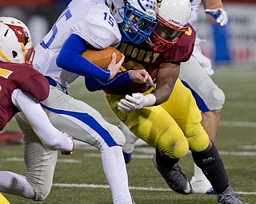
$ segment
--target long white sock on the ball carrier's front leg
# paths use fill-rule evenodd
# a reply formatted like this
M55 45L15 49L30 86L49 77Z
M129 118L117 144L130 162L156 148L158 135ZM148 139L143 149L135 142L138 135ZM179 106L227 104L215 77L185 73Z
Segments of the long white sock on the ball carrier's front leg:
M128 175L126 172L126 163L122 155L122 147L107 147L101 154L103 170L110 185L114 204L131 203Z

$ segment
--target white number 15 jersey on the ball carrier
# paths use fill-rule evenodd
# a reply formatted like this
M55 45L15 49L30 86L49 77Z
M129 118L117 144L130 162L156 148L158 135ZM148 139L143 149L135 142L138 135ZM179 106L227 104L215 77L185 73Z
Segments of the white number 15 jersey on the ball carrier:
M105 0L73 0L43 40L35 47L34 68L69 88L78 74L56 65L56 58L72 33L97 49L117 46L121 33Z

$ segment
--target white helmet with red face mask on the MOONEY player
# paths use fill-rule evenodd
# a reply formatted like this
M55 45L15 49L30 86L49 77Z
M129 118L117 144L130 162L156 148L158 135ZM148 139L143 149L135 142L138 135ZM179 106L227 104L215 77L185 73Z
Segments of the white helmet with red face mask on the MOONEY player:
M184 33L190 19L190 0L159 1L158 25L146 40L154 51L162 52L173 46Z

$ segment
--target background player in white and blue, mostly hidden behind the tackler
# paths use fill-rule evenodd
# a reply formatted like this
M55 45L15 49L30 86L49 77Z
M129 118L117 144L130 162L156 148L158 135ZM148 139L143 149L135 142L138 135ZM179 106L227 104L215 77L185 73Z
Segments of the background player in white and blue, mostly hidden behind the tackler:
M158 1L161 2L161 1ZM203 3L206 9L207 18L210 22L218 23L220 26L226 26L228 17L225 7L221 0L190 0L191 15L190 24L198 31L198 12ZM186 87L190 88L198 108L202 112L202 126L205 128L210 139L214 141L220 120L220 112L225 101L225 95L222 89L218 88L214 81L210 78L213 75L210 59L201 52L199 43L202 40L196 37L194 52L189 61L181 64L179 78ZM123 152L126 163L130 162L131 153L134 150L136 137L122 122L119 128L126 135L126 143L123 146ZM194 164L194 176L191 179L192 192L196 194L214 194L214 190L210 182L203 175L200 168Z

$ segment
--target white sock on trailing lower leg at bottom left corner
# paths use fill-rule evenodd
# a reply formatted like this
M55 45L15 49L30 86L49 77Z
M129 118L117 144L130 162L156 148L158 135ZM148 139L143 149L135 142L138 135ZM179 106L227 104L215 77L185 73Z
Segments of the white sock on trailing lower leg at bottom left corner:
M34 198L34 190L27 182L26 177L10 171L0 171L0 191L24 198Z

